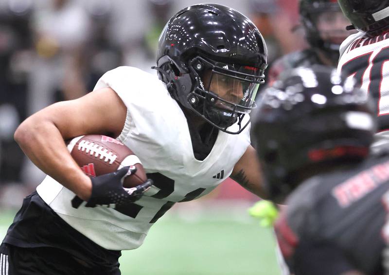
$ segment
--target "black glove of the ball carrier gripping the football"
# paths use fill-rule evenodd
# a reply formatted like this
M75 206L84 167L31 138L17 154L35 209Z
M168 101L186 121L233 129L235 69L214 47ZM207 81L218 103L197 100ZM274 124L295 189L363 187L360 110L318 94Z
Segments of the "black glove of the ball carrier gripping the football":
M123 178L136 172L135 166L126 166L122 169L91 177L92 194L85 205L86 207L108 206L114 209L124 209L135 201L139 200L144 191L149 189L153 181L148 179L143 184L134 188L124 188ZM71 206L78 208L83 201L75 196L71 200Z

